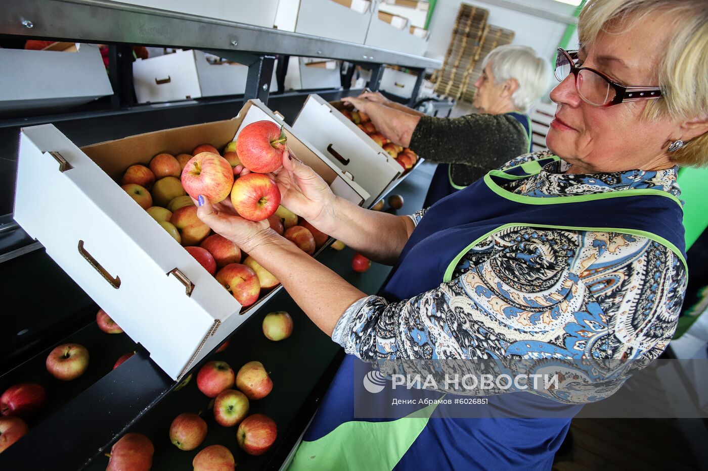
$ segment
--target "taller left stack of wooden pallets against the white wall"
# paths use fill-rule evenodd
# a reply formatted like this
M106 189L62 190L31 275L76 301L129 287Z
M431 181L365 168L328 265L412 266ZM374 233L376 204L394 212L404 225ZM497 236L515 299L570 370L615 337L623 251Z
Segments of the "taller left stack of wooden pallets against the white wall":
M457 12L455 29L447 47L445 61L435 73L435 92L458 98L467 71L474 67L484 40L489 10L462 4Z

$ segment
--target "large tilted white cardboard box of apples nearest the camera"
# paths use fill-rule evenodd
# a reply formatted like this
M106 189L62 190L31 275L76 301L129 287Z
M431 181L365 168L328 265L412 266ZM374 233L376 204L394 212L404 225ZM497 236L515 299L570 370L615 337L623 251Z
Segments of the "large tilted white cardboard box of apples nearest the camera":
M179 379L280 289L241 305L116 183L155 153L205 141L219 148L257 120L282 125L287 144L333 192L361 204L369 195L263 103L232 120L195 124L79 149L52 124L23 129L15 220L171 378ZM58 160L57 160L58 159ZM64 170L60 160L66 161ZM175 270L179 272L175 272ZM181 281L179 274L185 279ZM193 285L191 293L188 286Z

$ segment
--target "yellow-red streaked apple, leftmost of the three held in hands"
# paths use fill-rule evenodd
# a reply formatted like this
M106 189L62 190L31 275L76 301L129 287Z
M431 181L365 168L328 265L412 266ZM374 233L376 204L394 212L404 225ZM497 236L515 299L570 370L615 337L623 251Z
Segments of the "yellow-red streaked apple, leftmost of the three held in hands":
M201 152L182 170L182 187L197 199L200 194L212 203L224 201L234 185L234 169L217 153Z

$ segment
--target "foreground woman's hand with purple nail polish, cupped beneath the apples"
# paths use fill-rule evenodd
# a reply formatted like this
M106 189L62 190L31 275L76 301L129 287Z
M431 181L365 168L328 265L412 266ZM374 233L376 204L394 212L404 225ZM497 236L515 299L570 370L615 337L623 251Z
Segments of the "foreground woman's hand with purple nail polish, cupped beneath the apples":
M270 229L268 219L249 221L239 216L228 197L220 203L212 204L207 197L200 196L195 204L199 219L217 234L238 245L244 252L251 252L254 247L265 243L275 234Z

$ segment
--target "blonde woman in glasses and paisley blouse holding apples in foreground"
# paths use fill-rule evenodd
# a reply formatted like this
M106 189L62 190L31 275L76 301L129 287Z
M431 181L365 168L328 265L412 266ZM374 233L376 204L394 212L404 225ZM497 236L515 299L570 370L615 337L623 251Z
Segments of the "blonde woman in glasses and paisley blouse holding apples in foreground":
M677 166L708 161L708 4L590 0L578 33L578 52L560 50L556 62L551 151L514 159L413 216L355 207L283 158L275 178L285 207L394 264L377 296L268 221L200 198L199 216L272 272L348 354L290 469L548 470L577 409L547 412L583 402L521 391L489 396L485 418L451 418L452 406L440 405L437 418L426 407L414 418L357 419L355 357L593 368L645 365L666 348L687 281ZM514 405L525 413L495 415Z

